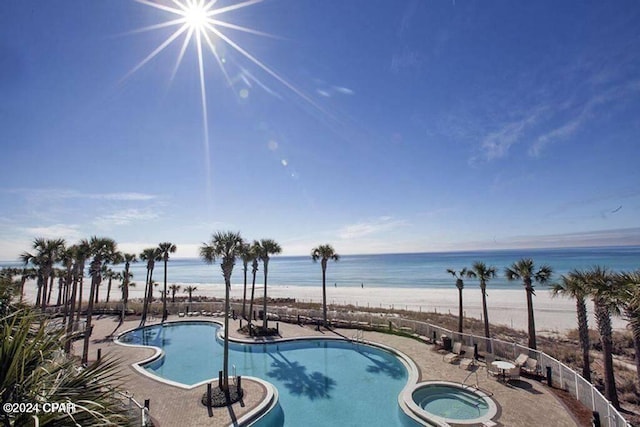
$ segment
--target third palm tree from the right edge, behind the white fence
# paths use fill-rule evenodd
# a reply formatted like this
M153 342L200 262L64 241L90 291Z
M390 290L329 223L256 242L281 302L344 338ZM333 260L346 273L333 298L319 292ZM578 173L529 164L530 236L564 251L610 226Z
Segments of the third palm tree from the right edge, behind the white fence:
M589 361L589 324L587 318L586 299L589 296L587 275L579 270L570 271L560 276L560 282L553 284L552 296L564 296L576 300L576 314L578 316L578 337L582 349L582 377L591 382L591 363Z

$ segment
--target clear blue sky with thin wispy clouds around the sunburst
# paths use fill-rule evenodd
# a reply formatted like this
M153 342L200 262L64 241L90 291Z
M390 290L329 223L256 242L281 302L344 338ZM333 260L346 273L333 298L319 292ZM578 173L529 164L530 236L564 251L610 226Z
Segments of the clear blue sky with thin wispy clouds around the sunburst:
M3 2L0 259L91 235L195 256L227 229L288 255L640 244L638 2L225 10L205 138L195 38L138 67L178 26L136 30L178 15Z

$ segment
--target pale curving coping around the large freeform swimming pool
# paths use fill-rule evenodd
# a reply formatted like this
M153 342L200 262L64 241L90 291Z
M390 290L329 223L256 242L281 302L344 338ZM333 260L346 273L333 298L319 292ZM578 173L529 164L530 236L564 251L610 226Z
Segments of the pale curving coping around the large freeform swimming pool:
M171 320L171 321L167 321L164 322L162 324L153 324L153 325L147 325L147 326L142 326L142 328L145 327L150 327L150 326L158 326L158 325L162 325L162 327L164 327L164 325L174 325L174 324L188 324L188 323L213 323L216 325L220 326L220 329L218 330L218 332L216 333L216 339L217 340L222 340L224 341L224 337L222 336L223 331L224 331L224 324L219 321L219 320L214 320L214 319L198 319L198 320ZM214 381L218 381L218 378L211 378L211 379L206 379L203 381L200 381L196 384L192 384L192 385L186 385L183 383L179 383L177 381L172 381L172 380L168 380L162 377L159 377L157 375L154 375L152 373L150 373L148 370L146 370L142 365L151 363L155 360L159 360L160 358L164 357L164 351L159 348L156 347L154 345L143 345L143 344L129 344L129 343L124 343L120 341L120 337L122 337L124 334L127 334L129 332L135 331L137 329L141 329L140 326L135 327L135 328L131 328L131 329L127 329L126 331L122 331L121 333L119 333L116 337L113 338L113 342L118 344L118 345L122 345L125 347L136 347L136 348L152 348L154 349L154 354L143 359L143 360L139 360L137 362L134 362L131 364L132 368L138 372L139 374L152 379L154 381L158 381L160 383L163 384L167 384L173 387L177 387L177 388L181 388L183 390L192 390L194 388L203 386L205 384L208 384L210 382L214 382ZM256 341L253 339L248 339L248 338L238 338L238 337L231 337L229 336L229 342L232 343L236 343L236 344L251 344L251 345L255 345L255 344L277 344L277 343L284 343L284 342L295 342L295 341L310 341L310 340L326 340L326 341L344 341L344 342L353 342L356 344L364 344L364 345L369 345L372 347L377 347L380 348L382 350L385 350L391 354L393 354L394 356L396 356L399 360L400 363L402 363L402 365L405 367L405 369L407 370L407 382L405 384L405 386L402 388L402 390L400 391L400 393L398 394L398 405L400 407L400 409L402 410L402 412L409 418L411 418L413 421L424 425L425 421L424 419L422 419L421 417L417 416L416 414L413 413L413 411L409 408L409 406L406 404L406 399L405 396L407 395L407 393L409 394L409 396L411 396L411 393L413 392L413 389L418 385L418 380L420 378L420 370L418 369L418 366L416 365L416 363L413 361L413 359L411 359L409 356L407 356L406 354L404 354L403 352L401 352L398 349L395 349L393 347L387 346L385 344L381 344L381 343L376 343L374 341L368 341L368 340L356 340L356 339L349 339L348 337L323 337L323 336L303 336L303 337L293 337L293 338L274 338L274 339L269 339L269 340L263 340L263 341ZM265 381L261 378L257 378L257 377L250 377L250 376L243 376L246 379L250 379L253 380L259 384L261 384L263 387L265 387L266 389L266 396L265 398L256 405L256 407L254 409L252 409L251 411L249 411L247 414L245 414L242 418L237 420L237 424L236 425L249 425L251 423L255 423L257 422L260 418L264 417L265 415L267 415L273 408L276 407L277 403L278 403L278 390L277 388L270 382ZM234 425L234 424L232 424ZM444 424L444 425L448 425L448 424Z

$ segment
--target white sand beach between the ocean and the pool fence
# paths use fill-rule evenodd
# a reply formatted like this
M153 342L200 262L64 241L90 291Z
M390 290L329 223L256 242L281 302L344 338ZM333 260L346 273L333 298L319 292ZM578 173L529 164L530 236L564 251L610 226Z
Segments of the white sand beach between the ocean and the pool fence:
M197 296L224 298L224 285L222 284L180 284L185 286L197 286L193 293ZM160 285L162 286L162 285ZM242 298L242 284L232 284L232 298ZM106 297L106 284L100 286L100 300ZM130 299L142 298L144 288L131 288ZM256 286L256 297L262 296L262 287ZM524 289L488 290L487 305L489 321L492 324L509 326L515 329L527 329L527 305ZM111 301L120 298L120 290L114 284L111 290ZM85 281L83 299L89 295L89 281ZM154 297L159 298L158 290L154 290ZM181 290L176 296L184 297ZM295 298L302 302L322 302L322 290L320 287L309 286L269 286L268 296L271 298ZM52 302L57 297L57 288L54 289ZM25 286L25 298L27 301L35 300L35 283L27 283ZM482 299L478 287L465 287L463 291L465 317L482 317ZM385 309L408 309L414 311L428 311L438 313L458 313L457 289L441 288L386 288L386 287L327 287L327 302L329 304L351 304L358 307L381 307ZM538 289L533 301L535 310L536 330L540 332L564 333L577 327L575 301L566 298L552 298L547 289ZM593 317L593 306L588 304L590 318L589 326L596 328ZM624 329L626 322L621 318L613 319L615 329ZM480 332L480 331L478 331Z

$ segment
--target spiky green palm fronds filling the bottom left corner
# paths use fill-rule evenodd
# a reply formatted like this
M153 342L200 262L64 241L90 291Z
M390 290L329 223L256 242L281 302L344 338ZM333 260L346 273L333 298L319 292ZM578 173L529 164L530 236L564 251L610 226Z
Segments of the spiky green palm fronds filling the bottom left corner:
M60 357L64 332L41 320L29 310L0 319L0 400L81 402L72 414L41 412L40 426L133 425L115 393L124 380L115 361L103 358L78 370L73 358ZM3 413L0 424L26 426L34 420L27 412Z

